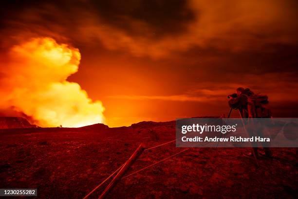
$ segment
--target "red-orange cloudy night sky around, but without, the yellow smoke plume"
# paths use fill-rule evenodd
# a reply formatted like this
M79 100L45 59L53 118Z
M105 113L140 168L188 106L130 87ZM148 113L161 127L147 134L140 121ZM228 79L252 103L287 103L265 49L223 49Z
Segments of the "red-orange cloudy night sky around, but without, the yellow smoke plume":
M109 126L227 114L240 86L298 117L297 19L296 0L2 0L0 67L30 38L77 48L68 81Z

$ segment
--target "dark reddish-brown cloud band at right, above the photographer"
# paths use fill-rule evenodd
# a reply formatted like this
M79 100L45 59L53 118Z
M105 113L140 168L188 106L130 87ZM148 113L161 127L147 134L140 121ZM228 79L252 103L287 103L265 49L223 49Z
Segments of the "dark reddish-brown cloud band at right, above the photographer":
M264 45L258 51L238 52L211 47L193 47L176 56L180 56L187 67L197 68L198 71L204 68L205 71L225 71L226 74L298 73L297 52L298 45L295 43L274 43ZM213 78L218 77L214 74Z

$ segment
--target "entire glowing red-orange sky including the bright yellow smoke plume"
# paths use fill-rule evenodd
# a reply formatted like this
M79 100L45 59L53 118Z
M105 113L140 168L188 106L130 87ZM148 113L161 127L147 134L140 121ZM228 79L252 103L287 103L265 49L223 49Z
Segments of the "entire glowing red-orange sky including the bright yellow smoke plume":
M268 95L273 117L298 117L295 0L7 3L0 116L110 127L220 116L242 86Z

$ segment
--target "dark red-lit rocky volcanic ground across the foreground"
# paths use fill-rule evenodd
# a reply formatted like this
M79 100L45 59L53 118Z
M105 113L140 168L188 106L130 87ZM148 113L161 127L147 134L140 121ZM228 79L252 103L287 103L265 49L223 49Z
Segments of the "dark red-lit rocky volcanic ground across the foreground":
M38 198L83 198L141 142L151 147L173 139L175 121L0 130L0 188L37 188ZM172 142L145 151L128 174L181 150ZM191 148L120 180L107 198L297 198L297 149L272 150L278 159L261 158L257 168L242 155L249 148Z

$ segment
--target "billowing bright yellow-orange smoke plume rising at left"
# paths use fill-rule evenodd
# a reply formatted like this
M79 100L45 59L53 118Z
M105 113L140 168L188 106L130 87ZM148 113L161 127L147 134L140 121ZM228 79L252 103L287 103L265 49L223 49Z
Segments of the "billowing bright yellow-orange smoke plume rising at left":
M0 106L40 126L80 127L104 122L101 101L92 101L67 78L76 73L80 53L51 38L34 38L12 47L0 67Z

